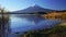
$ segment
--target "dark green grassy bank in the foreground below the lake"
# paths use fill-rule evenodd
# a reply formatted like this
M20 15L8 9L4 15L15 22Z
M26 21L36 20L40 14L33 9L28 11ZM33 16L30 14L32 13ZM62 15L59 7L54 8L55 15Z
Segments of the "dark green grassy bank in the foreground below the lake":
M59 24L53 28L26 32L24 37L66 37L66 26Z

